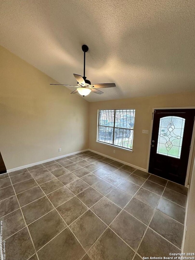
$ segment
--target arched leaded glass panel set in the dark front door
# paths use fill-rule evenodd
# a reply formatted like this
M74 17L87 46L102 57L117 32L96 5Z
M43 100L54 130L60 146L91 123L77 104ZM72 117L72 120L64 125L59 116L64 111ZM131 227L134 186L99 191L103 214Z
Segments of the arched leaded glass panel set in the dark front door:
M160 119L157 153L180 159L185 118L165 116Z

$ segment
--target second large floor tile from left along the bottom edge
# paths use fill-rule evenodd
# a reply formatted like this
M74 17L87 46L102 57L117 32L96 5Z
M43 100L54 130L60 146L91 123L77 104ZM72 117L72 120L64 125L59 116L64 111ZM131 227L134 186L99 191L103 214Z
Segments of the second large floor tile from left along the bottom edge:
M80 260L85 251L73 233L66 228L57 237L52 239L44 248L38 251L40 260L69 259Z

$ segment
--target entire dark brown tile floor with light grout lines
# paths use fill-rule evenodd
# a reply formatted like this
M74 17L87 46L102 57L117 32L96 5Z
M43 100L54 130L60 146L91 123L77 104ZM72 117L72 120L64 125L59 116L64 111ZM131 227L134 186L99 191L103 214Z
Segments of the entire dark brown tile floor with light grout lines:
M179 184L90 151L0 175L6 260L178 253L186 195Z

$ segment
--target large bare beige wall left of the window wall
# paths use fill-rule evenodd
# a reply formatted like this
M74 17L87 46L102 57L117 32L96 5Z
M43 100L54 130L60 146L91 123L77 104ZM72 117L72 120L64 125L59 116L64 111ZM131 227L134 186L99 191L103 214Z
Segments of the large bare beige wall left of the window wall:
M66 87L49 85L57 82L3 47L0 57L0 151L6 168L87 149L89 103Z

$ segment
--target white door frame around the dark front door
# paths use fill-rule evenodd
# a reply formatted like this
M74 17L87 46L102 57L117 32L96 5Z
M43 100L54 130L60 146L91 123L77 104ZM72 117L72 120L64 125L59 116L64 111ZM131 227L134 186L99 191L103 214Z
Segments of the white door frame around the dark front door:
M195 106L191 107L158 107L158 108L152 108L152 118L151 118L151 127L150 127L150 136L149 136L149 144L148 144L148 156L147 156L147 168L146 171L148 172L149 169L149 162L150 162L150 150L151 150L151 141L152 141L152 129L153 129L153 122L154 122L154 110L158 109L195 109ZM190 154L188 158L188 166L187 166L187 172L186 172L186 180L185 180L185 187L188 186L188 181L189 181L189 175L190 175L190 166L192 162L192 153L193 153L193 144L195 140L195 121L193 125L193 132L192 132L192 140L191 140L191 149L190 149Z

